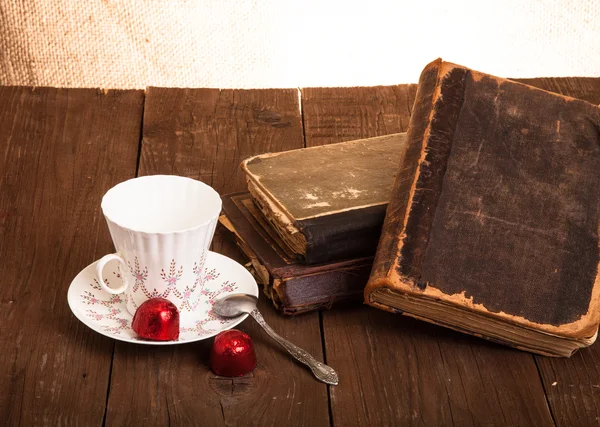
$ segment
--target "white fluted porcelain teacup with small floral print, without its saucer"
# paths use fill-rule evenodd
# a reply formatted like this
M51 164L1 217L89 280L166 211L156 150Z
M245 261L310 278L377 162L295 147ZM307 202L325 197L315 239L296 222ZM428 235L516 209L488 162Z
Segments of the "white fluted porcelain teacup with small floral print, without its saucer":
M221 212L219 194L191 178L144 176L108 190L102 212L117 249L96 264L102 288L124 292L132 315L144 301L162 297L177 306L182 319L189 317L198 304L204 261ZM113 260L120 264L118 288L102 278Z

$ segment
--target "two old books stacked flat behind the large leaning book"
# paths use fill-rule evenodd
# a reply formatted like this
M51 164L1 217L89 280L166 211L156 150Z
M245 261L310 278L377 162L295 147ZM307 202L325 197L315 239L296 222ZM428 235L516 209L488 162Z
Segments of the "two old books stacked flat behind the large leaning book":
M400 133L242 163L248 192L223 198L220 221L283 313L362 299L405 145Z

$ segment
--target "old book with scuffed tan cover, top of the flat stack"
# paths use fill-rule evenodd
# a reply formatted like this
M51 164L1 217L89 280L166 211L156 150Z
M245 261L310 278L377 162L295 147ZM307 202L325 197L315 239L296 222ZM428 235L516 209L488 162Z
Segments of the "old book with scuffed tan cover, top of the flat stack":
M287 252L306 264L373 256L406 134L242 163L248 190Z

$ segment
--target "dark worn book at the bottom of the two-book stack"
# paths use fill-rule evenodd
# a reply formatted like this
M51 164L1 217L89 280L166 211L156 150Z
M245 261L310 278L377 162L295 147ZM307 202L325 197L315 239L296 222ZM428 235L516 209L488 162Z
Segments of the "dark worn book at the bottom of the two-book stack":
M226 195L219 219L250 262L257 281L284 314L329 308L344 300L361 301L373 257L304 265L286 255L277 234L262 218L249 193Z

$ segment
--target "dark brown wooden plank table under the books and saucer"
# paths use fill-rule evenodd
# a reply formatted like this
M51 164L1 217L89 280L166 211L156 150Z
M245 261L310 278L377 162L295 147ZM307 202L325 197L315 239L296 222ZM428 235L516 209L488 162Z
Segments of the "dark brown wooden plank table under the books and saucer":
M600 103L600 79L527 82ZM283 318L261 301L338 370L327 387L251 321L258 367L227 379L207 367L211 340L115 342L71 314L71 280L112 251L111 186L162 173L238 191L250 155L405 131L415 92L0 88L0 425L600 424L600 344L553 359L361 304ZM221 233L213 249L241 260Z

